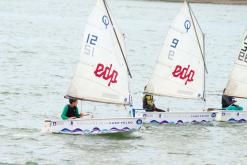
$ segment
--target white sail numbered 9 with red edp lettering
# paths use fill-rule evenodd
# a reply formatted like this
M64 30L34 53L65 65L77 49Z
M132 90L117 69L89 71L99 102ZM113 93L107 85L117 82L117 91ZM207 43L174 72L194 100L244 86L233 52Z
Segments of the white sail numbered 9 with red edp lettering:
M146 93L202 99L205 88L204 35L185 1L166 36Z

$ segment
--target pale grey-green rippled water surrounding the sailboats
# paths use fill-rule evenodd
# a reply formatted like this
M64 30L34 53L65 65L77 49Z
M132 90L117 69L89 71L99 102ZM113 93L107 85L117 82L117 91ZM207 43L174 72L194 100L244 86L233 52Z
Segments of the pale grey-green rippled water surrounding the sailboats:
M10 164L246 164L246 124L145 126L125 136L40 133L44 119L66 104L92 0L0 1L0 163ZM180 3L110 1L126 33L134 105ZM247 6L192 4L206 33L207 107L219 107L232 69ZM240 73L241 74L241 73ZM240 100L246 107L246 101ZM199 101L157 98L159 107L201 110ZM123 115L110 106L83 103L98 116ZM108 111L104 111L108 109ZM115 108L116 109L116 108Z

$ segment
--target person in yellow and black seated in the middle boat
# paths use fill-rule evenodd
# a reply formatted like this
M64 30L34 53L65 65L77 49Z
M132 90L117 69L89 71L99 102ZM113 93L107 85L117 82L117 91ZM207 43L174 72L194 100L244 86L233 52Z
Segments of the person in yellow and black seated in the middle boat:
M164 110L161 110L155 106L153 95L145 94L142 98L142 102L143 109L145 109L147 112L165 112Z

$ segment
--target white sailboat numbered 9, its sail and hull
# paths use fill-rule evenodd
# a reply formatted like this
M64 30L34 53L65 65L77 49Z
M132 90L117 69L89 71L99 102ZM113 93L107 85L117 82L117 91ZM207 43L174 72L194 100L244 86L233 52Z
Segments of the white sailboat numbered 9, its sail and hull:
M180 99L205 100L204 34L185 0L173 20L153 74L144 93ZM144 123L193 123L213 121L215 112L145 112L136 110L133 116L144 117Z

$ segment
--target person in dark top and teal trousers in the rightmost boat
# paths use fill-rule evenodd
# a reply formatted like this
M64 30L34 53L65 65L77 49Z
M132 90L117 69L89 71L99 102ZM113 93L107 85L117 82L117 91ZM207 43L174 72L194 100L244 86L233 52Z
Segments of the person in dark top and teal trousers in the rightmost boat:
M225 110L239 110L239 111L242 111L243 107L235 104L237 101L235 100L234 97L224 95L225 90L226 89L224 89L224 91L223 91L222 100L221 100L222 108L225 109Z

